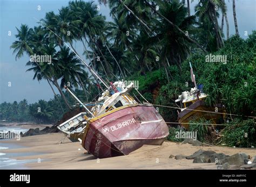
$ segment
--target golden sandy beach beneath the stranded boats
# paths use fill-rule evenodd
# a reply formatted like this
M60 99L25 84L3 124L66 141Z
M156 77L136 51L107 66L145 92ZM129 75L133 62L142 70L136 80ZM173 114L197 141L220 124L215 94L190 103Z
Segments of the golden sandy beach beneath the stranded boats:
M62 142L62 143L61 143ZM39 160L41 162L26 163L28 169L217 169L214 163L192 163L193 160L170 159L170 155L191 155L199 149L213 150L217 153L233 155L246 153L256 155L255 148L232 147L195 147L190 144L165 141L161 146L143 146L125 156L96 159L87 154L80 142L71 142L62 133L50 133L0 141L15 144L22 148L2 149L1 153L39 153L13 157L17 160Z

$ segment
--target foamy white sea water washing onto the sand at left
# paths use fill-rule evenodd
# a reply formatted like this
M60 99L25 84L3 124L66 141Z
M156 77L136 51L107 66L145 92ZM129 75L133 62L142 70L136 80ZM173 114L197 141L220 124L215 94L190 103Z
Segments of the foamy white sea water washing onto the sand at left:
M28 129L21 127L0 127L1 132L15 132L15 133L25 133ZM29 169L24 166L25 163L37 163L37 159L33 160L17 160L13 157L18 156L30 156L30 155L39 155L43 153L38 152L28 152L28 153L1 153L1 150L4 149L18 149L23 148L24 146L17 145L16 143L5 143L9 139L0 139L0 169ZM42 161L42 160L41 160Z

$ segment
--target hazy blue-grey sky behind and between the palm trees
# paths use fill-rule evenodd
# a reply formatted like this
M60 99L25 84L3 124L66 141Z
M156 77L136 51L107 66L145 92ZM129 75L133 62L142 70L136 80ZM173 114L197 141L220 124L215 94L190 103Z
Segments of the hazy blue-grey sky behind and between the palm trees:
M29 56L24 54L21 59L15 60L15 54L12 54L10 46L16 40L16 27L26 24L29 27L38 26L36 19L44 18L45 13L53 11L58 13L58 9L68 5L69 0L1 0L0 1L0 103L19 102L24 98L28 103L35 103L39 99L49 100L53 98L53 93L46 81L38 82L32 80L33 72L26 72L29 67L25 66L29 61ZM86 1L87 2L87 1ZM227 17L230 25L230 35L235 33L232 11L232 1L226 0ZM99 4L98 1L95 1ZM198 3L197 0L191 4L191 14L193 7ZM237 11L237 22L239 34L246 39L245 31L248 34L256 30L256 0L235 0ZM41 10L38 10L40 6ZM109 8L103 4L99 5L99 12L106 16L110 21ZM36 19L35 19L36 18ZM221 19L221 18L220 18ZM219 20L219 24L221 21ZM226 25L224 25L224 33ZM76 51L82 55L82 44L77 43L74 46ZM84 58L85 59L85 58Z

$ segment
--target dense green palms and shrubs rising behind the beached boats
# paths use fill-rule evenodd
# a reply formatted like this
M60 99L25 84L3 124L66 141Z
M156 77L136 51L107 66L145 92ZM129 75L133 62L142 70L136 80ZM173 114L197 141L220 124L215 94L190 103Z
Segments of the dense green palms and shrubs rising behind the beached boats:
M220 128L224 138L209 138L211 126L200 125L200 121L191 125L192 130L200 132L201 141L255 146L256 31L244 40L236 27L236 35L230 37L227 31L225 40L224 23L220 27L217 19L220 14L226 17L223 0L199 0L195 15L190 15L183 1L176 0L103 2L110 7L111 22L100 15L95 3L73 1L57 15L46 13L34 28L24 24L17 28L17 40L11 46L16 59L25 54L51 55L50 64L29 61L26 65L35 73L33 79L49 83L55 97L29 105L25 99L2 103L1 119L55 123L76 103L63 89L67 84L83 102L91 102L104 86L63 41L75 52L74 42L82 42L87 64L104 80L138 81L139 91L156 105L177 106L174 100L178 95L193 87L188 64L192 62L197 82L209 95L207 104L223 103L227 113L239 115L228 116L230 123ZM210 54L226 55L227 62L206 62ZM134 95L143 100L137 92ZM158 107L166 121L177 122L177 109ZM170 128L170 140L177 140L176 127Z

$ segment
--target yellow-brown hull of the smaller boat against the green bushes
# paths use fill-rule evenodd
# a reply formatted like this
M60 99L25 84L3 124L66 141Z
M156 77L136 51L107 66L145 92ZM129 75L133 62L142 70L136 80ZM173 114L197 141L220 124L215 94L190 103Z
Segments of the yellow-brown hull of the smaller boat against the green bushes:
M200 118L204 118L206 120L211 120L212 123L218 124L218 120L221 118L225 118L226 112L224 108L218 107L218 112L223 113L214 113L215 108L207 107L205 105L204 100L197 100L197 102L193 103L192 105L188 106L187 109L190 110L183 110L178 114L178 121L186 128L186 130L189 130L189 124L191 120L198 120ZM210 111L210 112L200 112L200 111Z

